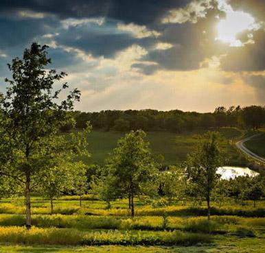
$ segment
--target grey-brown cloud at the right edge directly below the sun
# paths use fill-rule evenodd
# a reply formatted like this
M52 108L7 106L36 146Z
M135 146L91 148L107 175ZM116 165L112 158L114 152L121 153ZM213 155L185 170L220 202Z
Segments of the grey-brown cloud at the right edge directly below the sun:
M231 47L222 58L221 67L225 71L264 71L265 70L265 31L255 32L255 43L244 47Z

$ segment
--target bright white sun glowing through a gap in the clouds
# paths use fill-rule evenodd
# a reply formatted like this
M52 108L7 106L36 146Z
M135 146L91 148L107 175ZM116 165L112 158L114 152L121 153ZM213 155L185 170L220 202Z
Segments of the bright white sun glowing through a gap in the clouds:
M229 6L229 7L228 7ZM226 6L226 17L221 19L217 26L218 36L217 40L224 43L229 43L230 47L242 47L244 43L240 41L237 36L241 32L249 32L249 40L247 43L253 43L252 33L258 29L257 23L251 14L241 11L234 11L230 5Z

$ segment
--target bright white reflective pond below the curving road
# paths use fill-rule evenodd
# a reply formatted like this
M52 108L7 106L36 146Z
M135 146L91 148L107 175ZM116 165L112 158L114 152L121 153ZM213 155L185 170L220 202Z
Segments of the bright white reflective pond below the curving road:
M249 169L248 167L229 167L229 166L218 168L217 173L221 175L222 179L227 179L227 180L229 180L230 178L238 177L238 176L254 177L259 174Z

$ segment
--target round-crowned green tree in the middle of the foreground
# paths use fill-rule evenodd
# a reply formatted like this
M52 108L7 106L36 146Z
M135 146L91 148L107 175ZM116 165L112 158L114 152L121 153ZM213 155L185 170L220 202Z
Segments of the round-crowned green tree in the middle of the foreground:
M154 179L158 175L145 137L145 132L137 130L120 138L107 164L111 177L107 183L119 189L121 197L128 197L132 217L135 215L135 196L150 194L150 187L154 189Z

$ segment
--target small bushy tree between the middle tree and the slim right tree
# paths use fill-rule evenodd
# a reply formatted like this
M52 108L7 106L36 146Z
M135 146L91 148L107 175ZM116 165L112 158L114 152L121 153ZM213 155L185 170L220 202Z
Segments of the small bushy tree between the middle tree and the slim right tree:
M168 203L171 204L174 197L181 198L185 191L185 174L181 168L170 166L169 170L161 172L161 189L168 197Z

